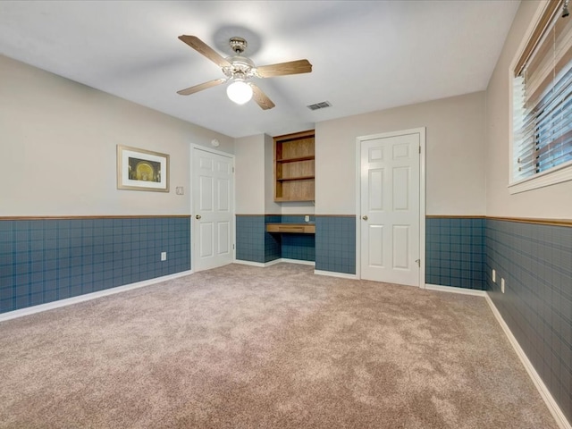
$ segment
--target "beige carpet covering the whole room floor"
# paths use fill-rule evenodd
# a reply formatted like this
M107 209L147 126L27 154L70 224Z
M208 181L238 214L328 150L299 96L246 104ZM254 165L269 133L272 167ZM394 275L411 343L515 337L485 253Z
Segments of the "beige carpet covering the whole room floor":
M556 428L482 298L228 265L0 324L3 428Z

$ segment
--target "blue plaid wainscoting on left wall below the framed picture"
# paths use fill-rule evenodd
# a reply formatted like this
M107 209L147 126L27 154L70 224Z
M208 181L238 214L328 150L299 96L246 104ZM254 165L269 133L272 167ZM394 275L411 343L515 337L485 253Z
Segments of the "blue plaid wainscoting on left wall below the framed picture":
M0 220L0 313L189 269L189 216Z

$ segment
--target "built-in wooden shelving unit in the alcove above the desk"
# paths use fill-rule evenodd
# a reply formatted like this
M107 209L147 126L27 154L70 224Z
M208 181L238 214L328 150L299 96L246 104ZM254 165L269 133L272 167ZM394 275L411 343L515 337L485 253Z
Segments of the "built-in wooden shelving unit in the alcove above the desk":
M315 200L314 130L274 137L274 201Z

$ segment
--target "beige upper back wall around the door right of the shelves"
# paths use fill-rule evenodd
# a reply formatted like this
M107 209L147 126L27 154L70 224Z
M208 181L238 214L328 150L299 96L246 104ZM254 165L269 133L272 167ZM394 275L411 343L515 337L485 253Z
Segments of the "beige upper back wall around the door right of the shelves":
M426 128L426 214L483 215L484 92L315 125L315 213L356 213L356 139Z

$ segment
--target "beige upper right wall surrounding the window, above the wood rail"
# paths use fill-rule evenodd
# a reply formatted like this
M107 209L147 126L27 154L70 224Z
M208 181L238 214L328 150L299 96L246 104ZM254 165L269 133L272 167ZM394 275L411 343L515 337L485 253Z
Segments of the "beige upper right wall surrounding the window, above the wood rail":
M486 90L486 214L572 219L572 181L510 195L509 67L541 2L522 2Z

